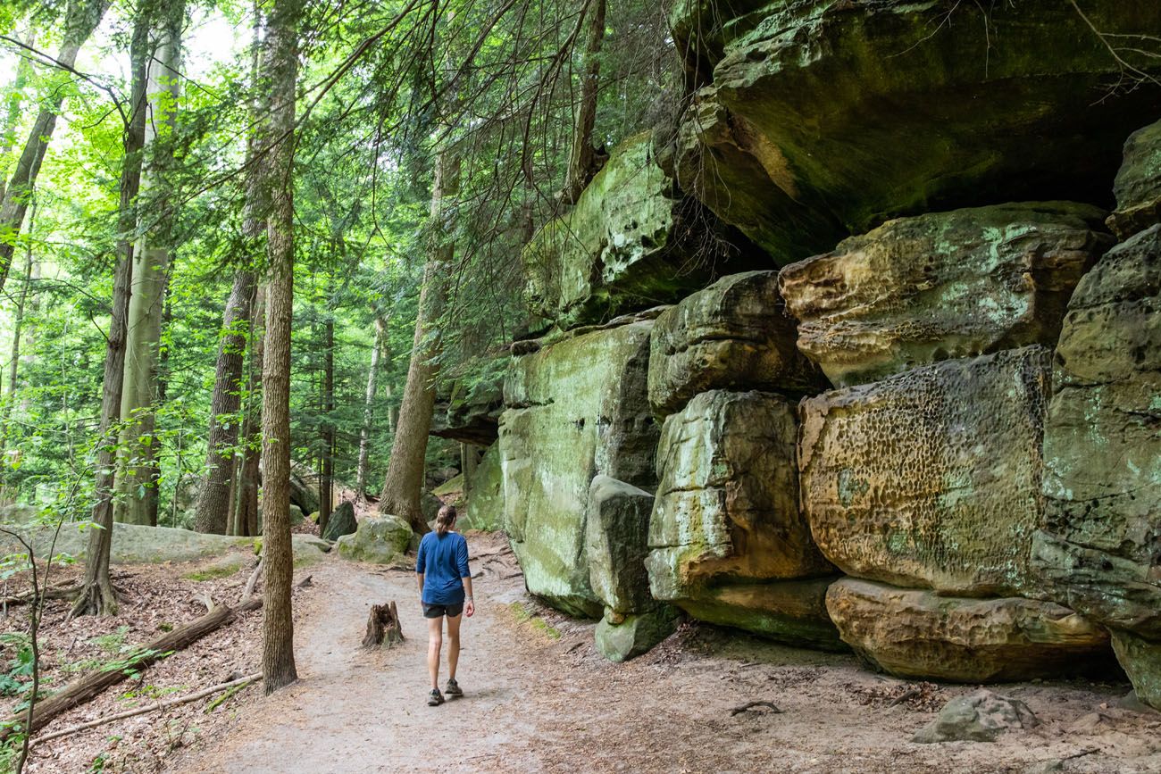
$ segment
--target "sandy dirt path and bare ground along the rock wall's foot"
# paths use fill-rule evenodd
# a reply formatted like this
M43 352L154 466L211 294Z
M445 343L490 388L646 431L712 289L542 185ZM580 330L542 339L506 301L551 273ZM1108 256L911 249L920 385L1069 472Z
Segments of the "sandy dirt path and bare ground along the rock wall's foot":
M295 592L297 683L269 697L250 687L209 714L203 700L49 742L34 748L28 771L1161 773L1161 715L1122 708L1122 683L1000 686L994 689L1025 701L1041 724L991 744L914 744L911 735L946 701L974 687L886 678L851 656L699 624L683 625L634 661L610 664L593 648L591 623L527 596L500 536L469 535L469 543L482 560L474 565L477 613L463 625L462 699L425 703L426 627L410 569L329 557L296 572L296 583L311 576ZM158 569L122 572L137 596L150 595L158 608L163 598L176 600L189 608L187 617L199 613L200 592L232 601L248 574L175 588ZM399 606L406 641L366 652L368 608L388 600ZM123 614L135 609L130 599ZM143 695L180 695L257 671L259 620L260 613L247 614L44 732L147 700ZM84 631L58 637L53 629L66 624L55 621L50 615L50 641L71 641L74 649L89 642ZM138 632L130 622L121 622L131 627L121 639L149 638L150 623ZM757 700L781 711L731 715Z

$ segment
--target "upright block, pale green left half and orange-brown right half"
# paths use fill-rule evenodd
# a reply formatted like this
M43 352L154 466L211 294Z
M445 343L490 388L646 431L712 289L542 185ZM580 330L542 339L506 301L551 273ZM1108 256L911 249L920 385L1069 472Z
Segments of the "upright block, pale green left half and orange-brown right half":
M702 392L665 420L646 563L656 599L834 571L799 511L796 435L793 404L770 392Z

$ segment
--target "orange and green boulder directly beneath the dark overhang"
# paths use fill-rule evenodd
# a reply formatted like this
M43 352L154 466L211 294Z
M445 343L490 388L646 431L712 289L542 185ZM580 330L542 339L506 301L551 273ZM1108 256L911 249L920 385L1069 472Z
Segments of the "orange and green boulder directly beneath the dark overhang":
M1068 297L1112 246L1088 204L900 218L779 274L798 346L836 386L951 357L1055 345Z

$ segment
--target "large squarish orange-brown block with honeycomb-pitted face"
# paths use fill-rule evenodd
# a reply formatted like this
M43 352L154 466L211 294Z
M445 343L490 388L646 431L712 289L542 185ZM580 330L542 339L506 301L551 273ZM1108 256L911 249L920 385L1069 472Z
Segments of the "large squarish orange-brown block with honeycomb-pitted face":
M802 504L823 555L897 586L1024 593L1050 362L1025 347L803 400Z

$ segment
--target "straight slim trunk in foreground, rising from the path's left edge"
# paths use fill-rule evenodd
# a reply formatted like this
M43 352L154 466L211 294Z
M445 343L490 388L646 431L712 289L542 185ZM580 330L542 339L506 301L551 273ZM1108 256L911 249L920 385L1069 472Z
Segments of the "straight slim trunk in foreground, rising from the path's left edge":
M290 326L294 304L294 117L301 0L271 6L261 64L268 121L261 160L271 202L266 229L262 357L262 679L267 695L298 679L290 583Z

